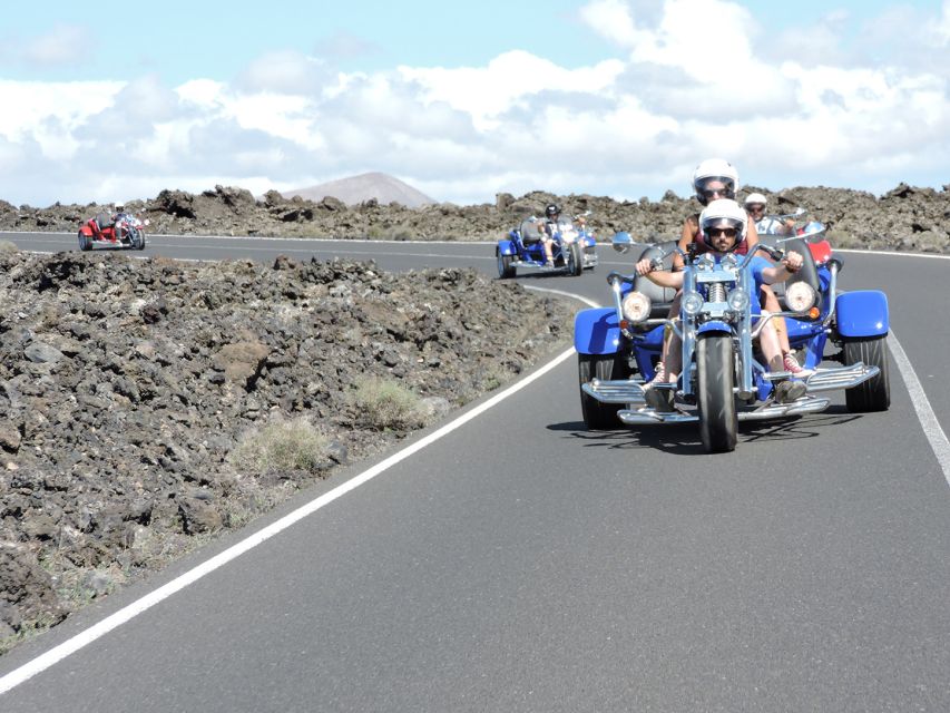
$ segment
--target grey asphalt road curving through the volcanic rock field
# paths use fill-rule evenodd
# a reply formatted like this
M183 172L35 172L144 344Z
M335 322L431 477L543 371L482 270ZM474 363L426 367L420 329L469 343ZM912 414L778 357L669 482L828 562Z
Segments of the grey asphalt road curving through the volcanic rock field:
M145 255L280 253L494 272L483 243L150 237ZM592 274L519 280L605 301L604 276L630 261L600 255ZM713 457L689 426L586 432L569 358L0 694L0 710L950 710L950 487L911 398L950 432L948 270L849 254L842 275L888 292L923 397L892 361L887 413L839 397L743 423L736 451ZM14 649L0 687L369 465Z

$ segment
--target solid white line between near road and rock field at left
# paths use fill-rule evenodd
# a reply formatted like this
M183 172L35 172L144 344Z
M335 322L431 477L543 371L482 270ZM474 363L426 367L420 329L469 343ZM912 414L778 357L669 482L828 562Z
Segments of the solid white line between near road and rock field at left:
M588 300L580 297L578 295L574 295L569 292L560 292L558 290L543 290L542 287L531 287L531 289L541 290L545 292L557 292L559 294L567 295L570 297L576 297L582 302L590 304L590 302ZM123 624L125 624L126 622L138 616L143 612L150 609L156 604L168 598L173 594L180 592L182 589L187 587L189 584L197 582L198 579L200 579L205 575L213 573L218 567L226 565L232 559L235 559L235 558L239 557L241 555L243 555L244 553L253 549L254 547L256 547L257 545L270 539L274 535L277 535L278 533L287 529L288 527L294 525L297 520L301 520L301 519L305 518L306 516L312 515L313 512L316 512L321 508L330 505L331 502L333 502L337 498L346 495L351 490L359 488L364 482L368 482L368 481L372 480L373 478L375 478L376 476L379 476L380 473L385 472L386 470L389 470L390 468L395 466L398 462L405 460L407 458L409 458L413 453L422 450L427 446L434 443L435 441L443 438L444 436L448 436L452 431L461 428L462 426L464 426L466 423L468 423L472 419L477 418L478 416L481 416L482 413L484 413L486 411L488 411L492 407L499 404L505 399L516 394L517 392L521 391L521 389L523 389L525 387L533 383L535 381L537 381L538 379L540 379L541 377L547 374L549 371L551 371L552 369L558 367L561 362L564 362L565 360L572 356L574 354L575 354L575 350L571 346L570 349L558 354L554 360L549 361L547 364L545 364L543 367L541 367L537 371L532 372L531 374L529 374L528 377L526 377L521 381L513 383L512 385L508 387L503 391L491 397L484 403L473 408L471 411L467 411L466 413L463 413L459 418L457 418L453 421L447 423L445 426L439 428L438 430L433 431L429 436L425 436L425 437L419 439L414 443L403 448L399 452L393 453L392 456L390 456L385 460L376 463L375 466L373 466L369 470L365 470L362 473L360 473L359 476L351 478L346 482L337 486L336 488L334 488L333 490L330 490L329 492L325 492L324 495L320 496L319 498L311 500L306 505L297 508L296 510L294 510L293 512L291 512L288 515L285 515L280 520L276 520L275 522L268 525L267 527L263 528L262 530L254 533L253 535L251 535L246 539L237 543L236 545L228 547L223 553L215 555L214 557L212 557L207 561L204 561L200 565L198 565L197 567L195 567L195 568L186 572L185 574L176 577L175 579L173 579L168 584L166 584L166 585L159 587L158 589L145 595L140 599L133 602L128 606L126 606L126 607L119 609L118 612L116 612L115 614L106 617L105 619L102 619L98 624L95 624L94 626L89 627L85 632L77 634L76 636L67 639L62 644L59 644L58 646L51 648L50 651L46 652L45 654L37 656L36 658L23 664L19 668L11 671L6 676L0 678L0 695L6 693L7 691L10 691L11 688L20 685L25 681L28 681L29 678L37 675L38 673L46 671L50 666L53 666L55 664L59 663L60 661L62 661L67 656L76 653L80 648L88 646L89 644L91 644L96 639L100 638L101 636L105 636L106 634L108 634L112 629L121 626Z

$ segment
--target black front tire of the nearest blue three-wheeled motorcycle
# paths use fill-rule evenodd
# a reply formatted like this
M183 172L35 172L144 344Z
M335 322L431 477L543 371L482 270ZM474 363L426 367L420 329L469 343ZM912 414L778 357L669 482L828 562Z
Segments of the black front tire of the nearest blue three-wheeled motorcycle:
M699 436L709 453L735 450L738 416L735 409L735 361L728 334L708 334L696 342L696 398Z

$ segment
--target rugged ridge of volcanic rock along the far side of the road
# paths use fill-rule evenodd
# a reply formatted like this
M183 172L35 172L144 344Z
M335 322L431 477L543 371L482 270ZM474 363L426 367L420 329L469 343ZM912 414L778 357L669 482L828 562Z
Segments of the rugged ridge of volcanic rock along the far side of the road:
M796 187L780 192L747 186L743 195L763 193L768 211L790 213L802 206L809 219L829 227L836 247L950 252L950 192L900 184L880 197L827 187ZM740 196L742 198L742 196ZM565 214L591 211L589 225L601 238L618 231L638 242L678 237L684 217L702 206L694 198L667 192L660 201L615 201L588 194L557 196L535 191L515 198L498 194L494 203L458 206L451 203L407 207L371 198L346 205L334 197L285 198L276 191L261 201L246 191L216 186L192 195L163 191L156 198L129 202L127 207L150 219L149 231L174 235L258 235L273 237L336 237L388 240L494 241L530 215L540 215L548 203ZM101 206L55 205L48 208L11 206L0 201L0 229L66 231Z

